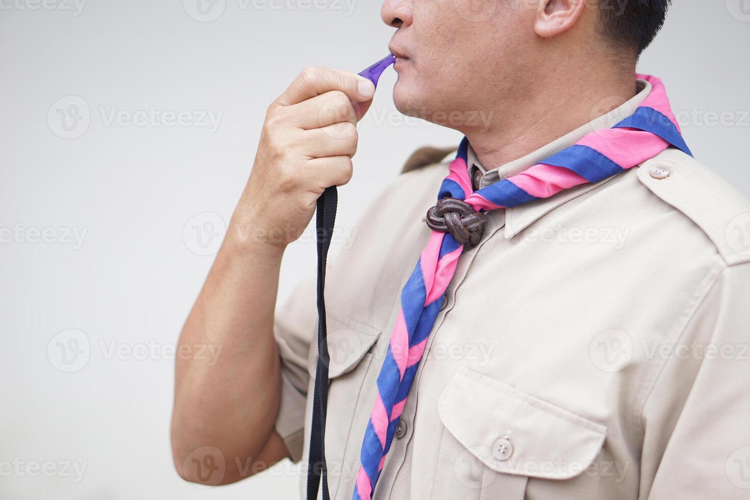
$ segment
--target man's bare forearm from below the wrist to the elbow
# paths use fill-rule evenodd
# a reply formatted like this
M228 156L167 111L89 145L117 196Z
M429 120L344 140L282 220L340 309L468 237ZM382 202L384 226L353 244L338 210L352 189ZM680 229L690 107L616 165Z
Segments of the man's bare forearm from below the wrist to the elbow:
M280 395L272 334L283 250L250 238L233 224L182 330L172 448L175 465L202 446L219 448L233 475L234 457L258 457L273 431ZM212 349L212 351L211 351ZM231 457L231 458L230 458Z

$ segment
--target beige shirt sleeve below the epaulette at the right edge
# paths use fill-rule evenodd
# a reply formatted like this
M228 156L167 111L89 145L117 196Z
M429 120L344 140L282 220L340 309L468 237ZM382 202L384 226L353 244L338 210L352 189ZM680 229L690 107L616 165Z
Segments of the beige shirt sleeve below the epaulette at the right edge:
M718 274L646 400L647 498L750 498L748 332L745 263Z

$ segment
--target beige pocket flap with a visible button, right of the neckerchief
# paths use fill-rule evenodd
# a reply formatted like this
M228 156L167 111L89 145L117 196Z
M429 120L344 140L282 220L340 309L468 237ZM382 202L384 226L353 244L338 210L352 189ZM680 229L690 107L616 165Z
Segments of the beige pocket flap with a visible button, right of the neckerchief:
M485 466L568 479L595 460L607 428L461 367L440 395L440 420Z

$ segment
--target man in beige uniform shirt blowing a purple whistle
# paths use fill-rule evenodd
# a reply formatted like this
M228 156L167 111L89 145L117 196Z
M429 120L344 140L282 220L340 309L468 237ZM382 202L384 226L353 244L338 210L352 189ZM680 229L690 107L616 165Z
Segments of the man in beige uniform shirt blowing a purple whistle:
M668 3L386 0L395 103L465 118L442 124L468 139L471 189L490 186L634 115L655 91L634 79L637 57ZM278 271L318 196L349 181L373 94L359 76L312 68L269 108L181 334L223 345L213 367L178 360L172 447L188 481L231 483L308 456L314 283L275 317ZM619 175L487 211L369 484L374 499L747 498L750 205L666 146ZM329 262L334 499L360 486L377 379L448 152L418 151ZM219 464L219 477L202 472Z

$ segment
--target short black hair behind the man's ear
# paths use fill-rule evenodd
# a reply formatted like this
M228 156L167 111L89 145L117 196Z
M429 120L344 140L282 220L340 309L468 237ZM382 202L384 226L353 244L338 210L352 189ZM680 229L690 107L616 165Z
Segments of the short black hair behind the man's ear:
M612 49L646 49L664 25L672 0L598 0L599 31Z

